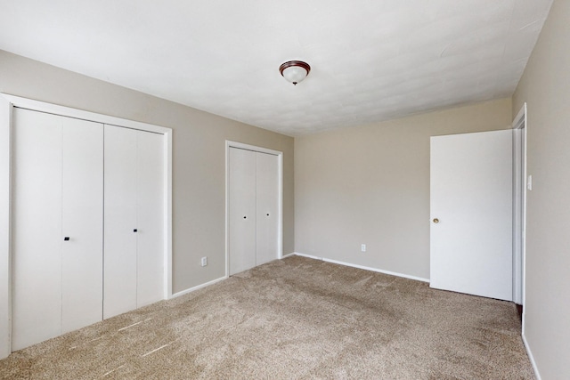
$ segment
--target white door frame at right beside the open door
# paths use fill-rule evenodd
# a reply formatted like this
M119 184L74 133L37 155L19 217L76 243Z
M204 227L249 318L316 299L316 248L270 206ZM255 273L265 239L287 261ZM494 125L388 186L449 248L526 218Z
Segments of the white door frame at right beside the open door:
M512 123L513 129L513 301L525 305L526 265L526 103ZM523 328L524 328L523 323Z

